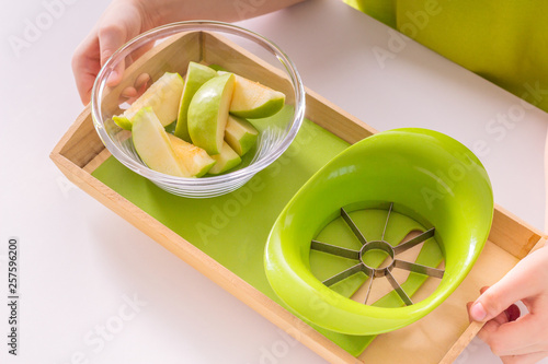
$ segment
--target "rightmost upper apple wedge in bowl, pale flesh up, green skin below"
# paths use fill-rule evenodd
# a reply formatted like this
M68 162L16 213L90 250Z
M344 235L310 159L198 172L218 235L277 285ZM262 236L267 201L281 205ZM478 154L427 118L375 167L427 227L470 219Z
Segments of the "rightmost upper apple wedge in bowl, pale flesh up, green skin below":
M265 118L279 111L284 103L285 95L282 92L236 75L230 114L242 118Z

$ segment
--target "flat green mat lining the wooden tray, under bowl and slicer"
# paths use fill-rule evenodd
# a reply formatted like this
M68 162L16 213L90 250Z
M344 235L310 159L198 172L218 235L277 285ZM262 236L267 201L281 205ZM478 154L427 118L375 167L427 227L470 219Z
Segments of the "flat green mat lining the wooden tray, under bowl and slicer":
M349 146L349 143L305 119L302 127L289 149L271 166L255 175L237 191L212 199L189 199L170 195L148 179L133 173L114 157L107 158L92 175L135 206L157 219L163 225L206 253L224 267L239 275L274 302L286 307L269 285L264 273L264 246L276 218L297 190L326 163ZM358 218L359 211L354 212ZM385 211L373 211L384 219ZM370 220L370 219L366 219ZM375 220L375 219L373 219ZM335 227L326 228L320 235L328 240L330 235L340 235ZM403 224L395 235L404 236L409 231L421 228L416 224ZM416 262L432 261L434 251L421 251ZM430 249L432 250L432 249ZM321 255L321 254L320 254ZM321 256L311 256L311 263L322 262ZM380 260L379 260L380 262ZM330 262L342 265L345 262ZM312 267L313 268L313 267ZM323 272L326 273L326 272ZM322 274L322 272L318 272ZM351 295L363 283L364 277L349 279L351 289L341 294ZM404 283L407 292L416 291L423 277L412 274ZM349 287L349 284L346 285ZM385 296L387 306L397 300ZM381 300L381 301L383 301ZM374 337L336 333L311 325L335 344L359 355Z

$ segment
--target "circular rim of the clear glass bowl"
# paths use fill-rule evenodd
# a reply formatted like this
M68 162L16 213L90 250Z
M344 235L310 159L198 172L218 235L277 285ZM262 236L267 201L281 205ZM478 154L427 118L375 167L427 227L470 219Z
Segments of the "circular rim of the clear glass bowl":
M295 91L295 111L294 117L290 124L289 131L287 136L284 138L283 142L269 155L266 155L261 161L250 164L249 166L231 172L226 175L206 177L206 178L184 178L165 175L163 173L159 173L152 171L148 167L142 166L141 164L134 161L132 157L126 155L110 138L109 133L104 128L104 121L101 113L101 99L103 98L103 91L106 87L106 80L111 75L114 67L119 62L119 60L124 59L132 51L145 45L148 42L155 40L157 38L164 38L170 35L175 35L181 32L192 32L192 31L217 31L221 33L228 33L237 36L241 36L249 40L253 40L258 45L265 48L267 51L272 52L279 62L285 67L287 74L289 75L290 82L293 84ZM265 38L264 36L243 28L241 26L216 22L216 21L184 21L178 23L171 23L167 25L162 25L156 28L152 28L148 32L145 32L132 40L127 42L124 46L122 46L118 50L116 50L112 57L105 62L105 64L101 68L95 82L93 84L93 89L91 92L91 115L93 119L93 125L95 130L102 140L103 144L106 149L114 155L122 164L127 166L129 169L136 172L137 174L162 185L170 186L181 186L181 187L197 187L198 190L195 192L199 193L206 192L209 188L216 188L221 186L231 185L232 183L238 183L242 179L249 179L260 171L267 167L275 160L277 160L289 146L295 137L297 136L298 130L302 124L302 119L305 117L305 86L302 85L302 81L300 74L298 73L293 61L287 57L287 55L276 46L272 40Z

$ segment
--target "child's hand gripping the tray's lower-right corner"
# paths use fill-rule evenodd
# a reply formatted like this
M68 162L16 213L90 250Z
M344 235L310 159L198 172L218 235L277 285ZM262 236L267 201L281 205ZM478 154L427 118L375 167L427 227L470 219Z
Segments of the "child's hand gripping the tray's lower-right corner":
M522 301L529 313L520 317ZM503 363L536 363L548 356L548 247L520 261L468 304L471 320L487 321L478 336Z

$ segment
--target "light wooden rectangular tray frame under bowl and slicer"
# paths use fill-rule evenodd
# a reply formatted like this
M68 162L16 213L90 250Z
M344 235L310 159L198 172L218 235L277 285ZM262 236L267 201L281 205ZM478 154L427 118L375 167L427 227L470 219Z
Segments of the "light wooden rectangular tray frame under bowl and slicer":
M168 70L184 73L190 60L217 63L282 91L287 87L287 80L277 69L247 50L212 34L192 33L171 38L139 58L126 70L123 83L110 92L117 98L141 72L150 73L155 80ZM307 119L349 143L376 132L310 90L307 90L306 102ZM481 328L479 324L468 322L466 303L478 296L481 286L496 282L520 259L546 242L540 232L496 207L486 248L455 293L423 319L378 336L355 357L95 178L92 173L110 157L110 153L93 128L89 106L55 146L50 157L81 189L332 363L452 363ZM421 295L421 291L416 295Z

